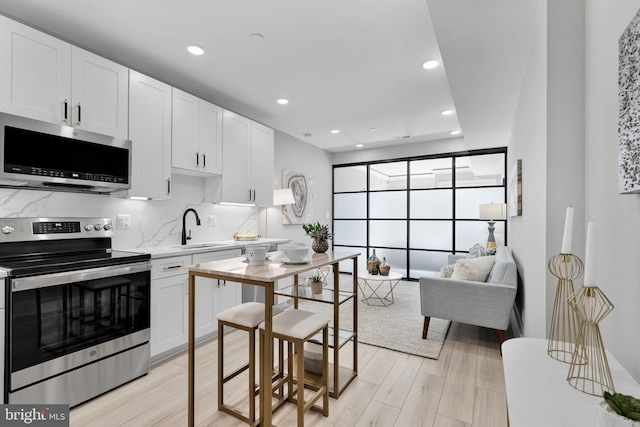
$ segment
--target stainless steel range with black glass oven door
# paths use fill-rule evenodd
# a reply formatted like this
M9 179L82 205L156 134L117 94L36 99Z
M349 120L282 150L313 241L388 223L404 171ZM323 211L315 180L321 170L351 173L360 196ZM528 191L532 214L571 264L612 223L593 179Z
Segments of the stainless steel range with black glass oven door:
M109 218L0 219L4 402L71 406L149 371L148 254L111 249Z

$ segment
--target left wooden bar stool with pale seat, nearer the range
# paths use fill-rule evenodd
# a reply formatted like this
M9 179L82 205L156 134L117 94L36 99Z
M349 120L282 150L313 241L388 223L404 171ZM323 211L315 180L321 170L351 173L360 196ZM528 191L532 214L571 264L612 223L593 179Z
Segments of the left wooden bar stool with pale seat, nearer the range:
M282 309L273 307L274 315L281 313ZM264 304L259 302L247 302L228 308L219 313L218 319L218 410L238 418L251 426L259 423L256 421L256 395L259 392L259 386L255 383L256 375L256 330L258 325L264 321ZM249 361L247 364L239 367L235 371L224 374L224 330L223 328L231 327L247 331L249 334ZM282 342L279 343L279 365L278 370L273 375L273 388L279 390L275 393L278 398L274 409L280 407L285 401L284 384L287 378L284 375L284 348ZM249 410L242 412L239 408L226 404L224 402L224 385L237 377L244 371L249 370Z

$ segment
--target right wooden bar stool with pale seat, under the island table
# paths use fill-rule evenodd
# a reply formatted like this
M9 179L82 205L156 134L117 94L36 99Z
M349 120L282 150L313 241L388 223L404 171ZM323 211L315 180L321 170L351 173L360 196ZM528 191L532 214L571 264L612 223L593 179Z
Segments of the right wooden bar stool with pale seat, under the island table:
M329 319L309 311L285 310L273 318L273 336L282 341L287 341L289 354L287 376L288 393L287 400L296 403L298 407L298 427L304 426L304 413L309 409L320 412L325 417L329 416ZM264 340L264 322L260 324L260 343ZM311 340L322 331L322 376L319 383L305 379L304 375L304 343ZM291 345L295 346L295 375L294 354ZM294 382L297 384L295 395ZM304 388L314 390L314 393L305 401ZM315 405L322 397L322 406Z

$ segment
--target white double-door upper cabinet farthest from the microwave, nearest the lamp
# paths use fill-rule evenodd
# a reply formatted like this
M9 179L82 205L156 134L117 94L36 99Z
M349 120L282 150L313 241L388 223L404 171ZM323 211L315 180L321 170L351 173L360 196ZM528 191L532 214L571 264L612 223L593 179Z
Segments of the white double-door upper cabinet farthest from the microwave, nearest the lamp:
M273 129L227 110L222 129L221 201L270 205L273 202Z

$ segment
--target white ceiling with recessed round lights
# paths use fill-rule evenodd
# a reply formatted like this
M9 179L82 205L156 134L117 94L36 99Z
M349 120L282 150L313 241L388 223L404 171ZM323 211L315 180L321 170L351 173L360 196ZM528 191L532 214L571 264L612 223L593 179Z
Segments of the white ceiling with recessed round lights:
M339 152L456 129L470 148L506 145L544 3L0 0L0 13Z

